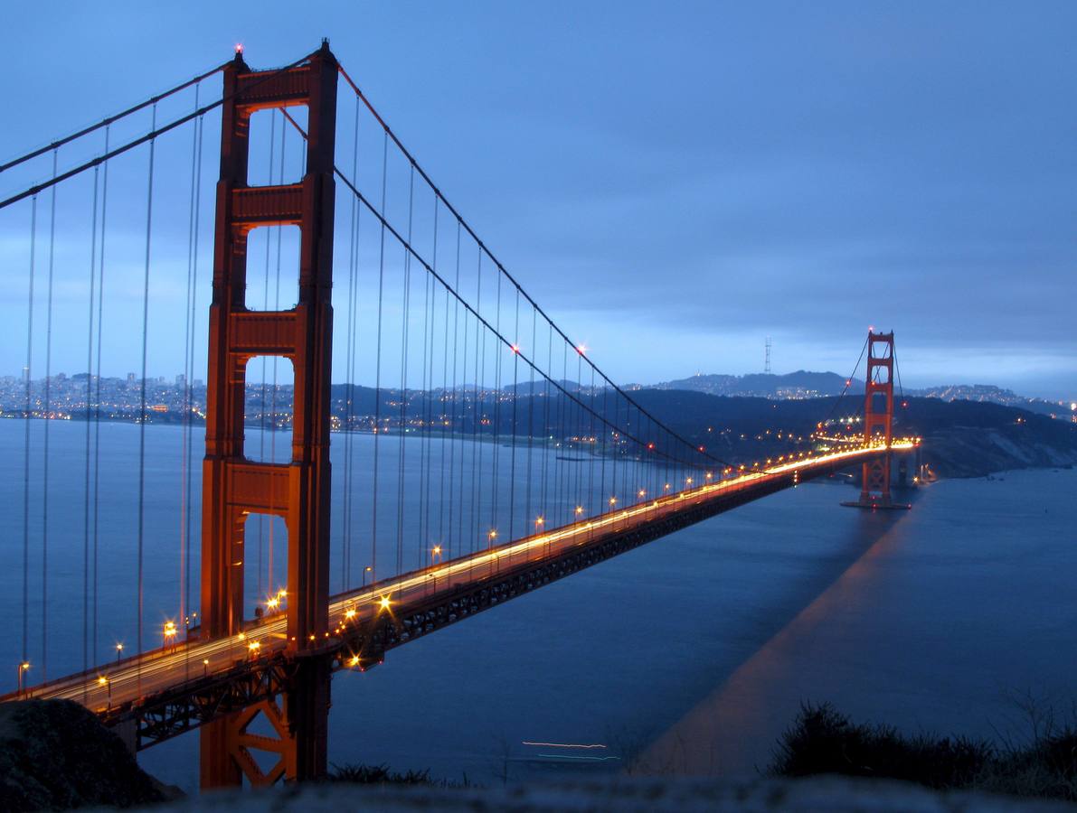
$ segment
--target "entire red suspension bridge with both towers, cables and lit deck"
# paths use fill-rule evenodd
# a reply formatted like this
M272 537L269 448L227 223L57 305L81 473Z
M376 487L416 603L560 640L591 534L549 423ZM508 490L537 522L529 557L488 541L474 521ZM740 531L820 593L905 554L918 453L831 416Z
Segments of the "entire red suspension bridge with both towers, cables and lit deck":
M218 74L221 95L206 102L202 87ZM338 104L340 88L345 104ZM149 128L138 124L146 112ZM212 206L204 206L205 128L218 120L219 180ZM183 133L190 146L180 142ZM93 139L100 143L80 157L79 145ZM164 180L167 149L171 166L183 149L190 157L185 191ZM145 161L131 173L142 175L143 211L130 194L136 187L116 186L136 158ZM132 750L198 728L205 787L323 774L336 670L368 669L395 646L554 580L854 465L863 477L857 504L894 505L891 457L919 443L893 434L894 337L873 330L862 352L867 391L863 432L855 437L824 437L829 422L821 420L816 442L740 462L671 428L607 377L527 294L327 43L262 71L250 69L237 49L220 67L0 166L0 180L50 159L47 180L0 202L0 213L28 225L25 409L14 415L25 425L22 628L17 687L2 700L78 701ZM253 183L255 176L266 183ZM124 192L118 203L117 188ZM85 198L88 214L71 215L78 233L69 240L61 231L58 244L59 189L69 200ZM157 238L164 251L154 242L163 219L182 219L176 215L184 198L185 263L166 256L182 254L173 232ZM204 212L212 212L214 238L208 330L201 332ZM143 240L131 238L131 224ZM76 297L85 323L54 325L57 274L62 279L61 267L72 262L68 243L80 238L88 242L85 297ZM109 296L126 300L115 306ZM44 377L36 388L42 309ZM344 330L334 326L335 309L345 313ZM157 315L169 311L172 327L158 336ZM58 544L55 498L53 509L48 499L54 341L76 327L71 341L84 354L85 391L62 416L85 419L84 459L72 463L84 470L75 540L82 543L82 668L50 679L50 656L76 667L50 645L51 629L69 626L70 618L50 618L47 594L59 579L48 558L51 522L52 545ZM110 339L113 333L118 339ZM148 365L158 346L174 353L181 333L176 534L151 527L146 427L167 410L151 401ZM204 413L194 383L199 352L207 358ZM140 375L128 376L137 394L137 454L128 450L123 459L101 438L109 354L141 365ZM291 403L267 409L267 394L277 399L286 372L278 362L290 362ZM375 380L367 402L353 384L364 371ZM335 374L344 386L334 385ZM257 390L258 381L252 412L251 384ZM31 431L32 418L46 418L42 431ZM193 450L202 420L198 532ZM278 429L291 436L280 454ZM342 448L339 474L331 480L333 430L340 430L334 442ZM257 448L249 442L255 436ZM40 472L31 466L39 450ZM137 514L134 550L124 552L125 564L135 562L134 607L120 611L136 616L134 652L99 634L107 626L101 576L111 547L101 520L126 510L101 491L102 467L110 466L129 466L137 477L128 505ZM277 525L283 533L275 538ZM284 557L275 565L280 547ZM40 572L31 575L39 553ZM176 581L164 590L171 595L150 596L146 561L173 555ZM158 633L156 626L146 630L148 598L178 607L159 628L160 646L148 645ZM40 632L31 621L40 621ZM258 716L276 737L254 732ZM260 767L252 756L257 751L277 756L272 768Z

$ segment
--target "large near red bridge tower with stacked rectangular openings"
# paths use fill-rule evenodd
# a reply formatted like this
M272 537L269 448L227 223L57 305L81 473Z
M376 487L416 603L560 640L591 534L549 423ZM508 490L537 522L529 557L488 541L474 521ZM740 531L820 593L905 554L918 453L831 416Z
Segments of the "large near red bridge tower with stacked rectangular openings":
M328 629L336 91L337 61L325 42L306 62L285 71L251 71L241 53L224 69L202 465L201 636L241 631L243 526L248 514L275 514L288 528L288 640L295 659L283 710L275 703L261 710L279 741L250 734L250 714L202 727L202 787L236 785L241 774L261 784L325 771L328 668L324 658L300 656L323 646ZM250 186L251 115L303 104L308 110L306 175L295 184ZM289 311L247 308L248 236L265 226L299 229L299 296ZM257 356L281 356L294 368L289 463L256 462L243 454L247 365ZM277 768L262 774L250 758L251 747L278 754Z

